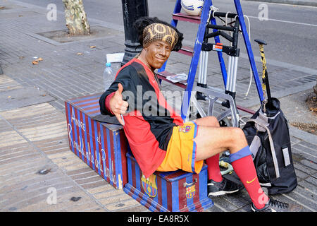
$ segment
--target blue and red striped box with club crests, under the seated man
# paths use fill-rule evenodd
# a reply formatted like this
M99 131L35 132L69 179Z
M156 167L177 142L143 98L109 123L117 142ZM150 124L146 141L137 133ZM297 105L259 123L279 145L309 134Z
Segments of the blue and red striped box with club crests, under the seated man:
M151 211L202 211L213 206L207 196L207 166L199 174L178 170L154 172L146 179L128 153L128 183L123 190Z

